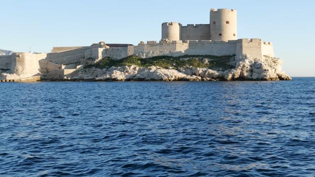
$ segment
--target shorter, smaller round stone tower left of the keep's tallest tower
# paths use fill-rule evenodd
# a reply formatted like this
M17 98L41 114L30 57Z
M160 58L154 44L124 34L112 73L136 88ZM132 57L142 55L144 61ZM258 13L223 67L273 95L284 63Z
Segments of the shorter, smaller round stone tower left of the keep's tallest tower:
M181 27L182 24L177 22L162 23L162 39L170 41L181 40Z

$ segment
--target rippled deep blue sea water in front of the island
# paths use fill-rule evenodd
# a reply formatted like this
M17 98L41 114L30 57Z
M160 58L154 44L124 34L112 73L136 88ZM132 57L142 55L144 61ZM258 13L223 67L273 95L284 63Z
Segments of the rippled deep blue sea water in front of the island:
M0 176L315 176L315 78L0 90Z

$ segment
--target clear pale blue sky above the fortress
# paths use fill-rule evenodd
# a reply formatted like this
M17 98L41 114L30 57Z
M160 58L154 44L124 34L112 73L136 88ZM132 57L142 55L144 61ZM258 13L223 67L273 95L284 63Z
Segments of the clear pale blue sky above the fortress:
M290 76L315 76L315 0L0 0L0 49L158 41L163 22L209 24L211 8L236 9L238 38L273 42Z

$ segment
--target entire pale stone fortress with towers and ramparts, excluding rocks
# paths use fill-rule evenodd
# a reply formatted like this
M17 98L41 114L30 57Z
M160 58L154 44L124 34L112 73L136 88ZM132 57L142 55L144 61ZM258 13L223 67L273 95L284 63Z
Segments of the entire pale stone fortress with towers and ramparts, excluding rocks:
M161 25L160 41L141 41L131 44L106 44L99 42L91 46L54 47L51 53L13 53L0 56L0 68L11 74L1 74L0 79L32 78L48 74L51 78L63 78L90 60L104 57L123 59L136 55L140 58L155 56L212 55L244 56L262 59L274 57L273 44L261 39L237 38L237 11L235 9L211 9L210 24L183 26L177 22Z

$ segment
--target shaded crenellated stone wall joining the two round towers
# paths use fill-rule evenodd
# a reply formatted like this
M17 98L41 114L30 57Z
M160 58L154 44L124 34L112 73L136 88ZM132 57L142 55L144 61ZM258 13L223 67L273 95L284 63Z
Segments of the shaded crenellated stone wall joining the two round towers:
M210 25L187 25L181 28L181 40L210 40Z

